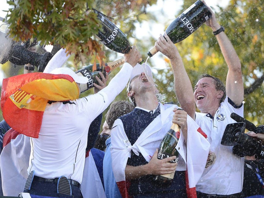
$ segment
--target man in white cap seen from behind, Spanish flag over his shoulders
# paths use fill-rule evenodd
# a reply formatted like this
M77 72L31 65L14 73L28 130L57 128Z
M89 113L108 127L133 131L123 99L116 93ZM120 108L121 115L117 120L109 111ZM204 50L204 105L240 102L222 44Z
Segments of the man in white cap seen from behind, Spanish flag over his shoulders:
M131 52L124 55L125 63L120 72L104 89L77 100L47 104L39 138L31 138L30 174L24 192L51 197L82 197L80 183L89 126L125 87L139 58L140 53L133 46ZM77 84L88 82L88 78L78 76L69 68L48 72L67 74Z

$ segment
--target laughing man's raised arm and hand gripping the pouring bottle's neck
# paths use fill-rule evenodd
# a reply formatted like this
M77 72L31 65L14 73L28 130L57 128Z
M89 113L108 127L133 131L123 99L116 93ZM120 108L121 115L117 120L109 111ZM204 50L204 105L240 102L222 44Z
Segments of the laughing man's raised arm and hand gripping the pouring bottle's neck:
M162 35L160 35L155 43L155 48L170 59L174 75L174 88L176 96L181 104L181 108L186 111L192 119L194 119L195 101L191 81L184 68L182 58L176 45L172 43L168 35L164 36L167 41Z

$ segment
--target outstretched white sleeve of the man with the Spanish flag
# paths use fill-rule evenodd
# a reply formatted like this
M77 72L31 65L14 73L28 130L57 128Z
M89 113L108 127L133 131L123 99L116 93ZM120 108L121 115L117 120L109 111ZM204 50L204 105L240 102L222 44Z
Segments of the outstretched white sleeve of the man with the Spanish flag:
M132 69L133 67L129 63L125 63L121 70L109 82L108 86L96 94L81 98L82 108L86 111L87 115L91 117L91 120L102 113L125 88Z

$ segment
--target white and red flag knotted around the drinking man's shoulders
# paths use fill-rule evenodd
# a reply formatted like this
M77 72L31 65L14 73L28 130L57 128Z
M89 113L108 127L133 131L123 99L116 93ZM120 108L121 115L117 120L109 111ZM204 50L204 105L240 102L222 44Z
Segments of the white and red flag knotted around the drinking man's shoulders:
M129 180L125 179L125 167L131 152L136 155L141 153L146 161L150 161L155 149L159 147L164 135L170 129L171 120L175 107L161 105L161 114L157 116L144 129L142 134L131 145L120 119L115 120L111 130L111 157L112 168L117 186L123 198L130 198ZM162 121L163 120L163 121ZM120 126L120 127L118 127ZM176 145L179 152L179 161L177 171L186 171L186 191L188 198L197 198L195 185L200 179L208 157L210 143L206 139L205 133L196 124L196 122L187 116L187 145L184 138L180 135L178 144ZM176 179L176 178L175 178Z

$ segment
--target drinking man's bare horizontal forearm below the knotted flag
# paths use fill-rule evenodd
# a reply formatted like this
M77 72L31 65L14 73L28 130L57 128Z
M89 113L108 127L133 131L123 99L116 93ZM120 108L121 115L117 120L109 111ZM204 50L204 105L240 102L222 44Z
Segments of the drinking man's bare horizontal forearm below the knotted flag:
M145 175L150 175L147 164L141 166L126 165L125 176L127 180L137 179Z

